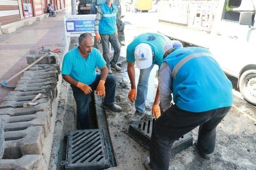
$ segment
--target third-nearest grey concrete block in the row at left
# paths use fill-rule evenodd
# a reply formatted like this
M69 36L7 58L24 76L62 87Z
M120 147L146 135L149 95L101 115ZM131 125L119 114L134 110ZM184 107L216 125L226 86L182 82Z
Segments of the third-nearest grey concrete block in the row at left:
M50 131L51 114L50 111L38 111L33 115L0 115L0 119L4 125L4 131L26 129L30 126L42 126L44 136L47 137Z

